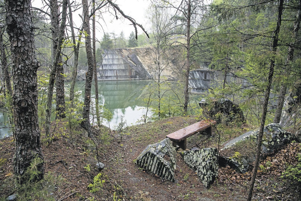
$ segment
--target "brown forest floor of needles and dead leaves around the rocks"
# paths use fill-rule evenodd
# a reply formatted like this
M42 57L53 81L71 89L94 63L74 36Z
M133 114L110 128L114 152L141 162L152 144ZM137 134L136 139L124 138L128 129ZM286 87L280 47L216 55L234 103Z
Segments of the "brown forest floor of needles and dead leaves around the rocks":
M45 174L54 176L48 194L55 200L246 200L251 171L237 173L230 167L220 167L219 177L210 189L203 187L197 174L177 154L175 182L165 181L149 174L134 163L134 159L148 144L157 143L165 136L185 126L200 121L194 116L172 117L160 121L127 127L122 134L106 127L93 129L94 138L86 137L79 127L67 129L66 122L53 126L54 140L47 143L42 133L42 151ZM241 125L223 126L213 130L213 136L196 134L188 138L188 149L192 147L218 148L254 127ZM97 144L95 146L93 144ZM241 150L243 152L244 150ZM247 151L247 150L246 150ZM15 141L13 137L0 140L0 200L16 193L13 173ZM253 200L300 200L298 187L281 178L288 165L298 162L297 153L301 144L292 143L261 161L256 177ZM101 184L93 181L98 175L96 163L105 164L101 171ZM88 165L90 164L90 165ZM51 172L51 173L47 173ZM58 179L62 177L63 180ZM95 184L89 192L88 185ZM53 186L52 185L52 186ZM47 186L47 185L46 185ZM99 190L98 190L99 188ZM92 190L90 188L90 190ZM97 191L98 190L98 191ZM22 193L22 192L18 192ZM38 198L35 198L38 199ZM40 200L45 198L40 197Z

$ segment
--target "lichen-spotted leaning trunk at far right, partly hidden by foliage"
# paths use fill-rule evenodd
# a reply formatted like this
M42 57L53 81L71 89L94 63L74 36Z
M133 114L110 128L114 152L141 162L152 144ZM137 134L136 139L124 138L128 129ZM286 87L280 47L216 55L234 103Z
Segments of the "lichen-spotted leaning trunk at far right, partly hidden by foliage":
M285 65L288 65L291 61L293 61L293 55L294 55L294 46L296 43L296 39L298 36L299 28L300 28L300 20L301 20L301 1L299 1L298 8L297 8L297 14L296 14L296 20L293 27L293 41L290 43L290 46L288 48L287 52L287 60L285 62ZM284 98L286 94L287 86L282 83L281 84L281 90L280 95L278 98L278 104L275 112L275 118L274 123L278 124L281 120L281 114L282 114L282 108L284 104Z

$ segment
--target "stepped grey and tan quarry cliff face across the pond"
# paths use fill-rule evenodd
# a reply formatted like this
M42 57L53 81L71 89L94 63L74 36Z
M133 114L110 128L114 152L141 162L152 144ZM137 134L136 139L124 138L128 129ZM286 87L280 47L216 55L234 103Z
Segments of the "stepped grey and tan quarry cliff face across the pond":
M98 66L99 80L158 79L179 80L184 65L179 52L158 58L153 48L104 50L103 63ZM158 67L160 60L160 70Z

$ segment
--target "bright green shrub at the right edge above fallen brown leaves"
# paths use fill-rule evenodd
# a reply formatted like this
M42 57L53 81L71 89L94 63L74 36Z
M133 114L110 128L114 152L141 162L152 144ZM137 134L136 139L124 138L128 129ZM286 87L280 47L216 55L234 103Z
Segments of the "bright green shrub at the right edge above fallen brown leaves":
M289 165L282 173L281 178L289 180L292 184L301 185L301 154L297 155L298 162L296 165Z

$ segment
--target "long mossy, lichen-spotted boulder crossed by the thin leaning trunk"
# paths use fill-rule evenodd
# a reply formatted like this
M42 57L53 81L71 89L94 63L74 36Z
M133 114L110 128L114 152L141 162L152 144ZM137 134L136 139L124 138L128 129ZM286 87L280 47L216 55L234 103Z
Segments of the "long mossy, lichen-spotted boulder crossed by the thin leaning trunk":
M229 165L237 171L245 173L256 158L256 146L259 129L249 131L222 145L219 164ZM268 124L263 129L261 157L265 158L295 140L292 133L283 130L279 124Z

